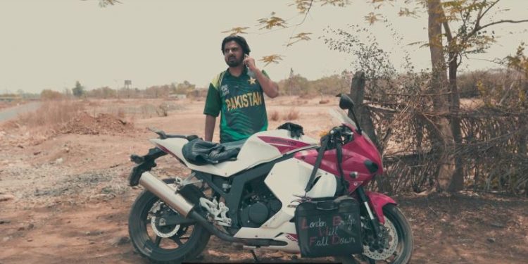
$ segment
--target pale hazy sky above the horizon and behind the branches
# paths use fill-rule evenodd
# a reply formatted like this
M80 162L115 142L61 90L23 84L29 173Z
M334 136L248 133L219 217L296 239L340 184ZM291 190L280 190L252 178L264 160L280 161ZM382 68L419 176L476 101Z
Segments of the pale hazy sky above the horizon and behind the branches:
M397 4L375 11L404 38L400 46L386 25L365 22L365 15L374 10L365 0L351 0L345 8L315 4L305 20L289 5L291 0L120 1L101 8L99 0L0 0L0 93L63 91L75 87L77 80L87 89L120 88L124 80L132 80L132 87L139 89L184 80L207 87L227 68L220 44L227 36L223 31L232 27L250 27L244 37L251 56L275 81L288 77L290 69L308 80L353 70L353 56L332 51L320 38L328 36L323 32L327 27L368 27L382 48L391 52L396 69L403 63L404 51L415 68L430 63L429 49L406 45L427 40L423 8L418 9L419 18L398 17ZM505 11L490 18L528 18L527 0L501 4L498 9ZM257 20L272 12L291 27L259 30ZM528 23L494 27L499 42L486 54L465 60L461 68L495 67L486 60L513 54L523 40L528 42L527 28ZM289 37L299 32L311 32L312 40L286 46ZM283 56L282 61L267 66L258 61L271 54Z

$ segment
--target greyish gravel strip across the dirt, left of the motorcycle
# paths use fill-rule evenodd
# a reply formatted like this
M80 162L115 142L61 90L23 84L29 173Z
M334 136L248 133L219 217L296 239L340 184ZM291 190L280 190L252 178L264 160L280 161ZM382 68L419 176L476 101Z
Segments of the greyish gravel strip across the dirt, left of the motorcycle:
M10 162L0 170L0 189L13 195L17 205L25 208L113 199L130 190L127 180L118 177L125 169L130 168L115 167L75 174L60 164L33 166Z

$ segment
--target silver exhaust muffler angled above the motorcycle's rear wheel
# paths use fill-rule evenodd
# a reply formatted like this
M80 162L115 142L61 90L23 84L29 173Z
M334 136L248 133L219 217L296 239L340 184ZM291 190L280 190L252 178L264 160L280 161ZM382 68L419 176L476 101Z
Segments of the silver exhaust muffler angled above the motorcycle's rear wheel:
M143 172L142 177L139 178L139 184L158 196L161 201L167 203L171 208L177 210L184 218L187 218L189 212L194 208L194 204L189 203L182 194L177 193L176 189L165 184L165 182L159 180L158 177L150 172Z

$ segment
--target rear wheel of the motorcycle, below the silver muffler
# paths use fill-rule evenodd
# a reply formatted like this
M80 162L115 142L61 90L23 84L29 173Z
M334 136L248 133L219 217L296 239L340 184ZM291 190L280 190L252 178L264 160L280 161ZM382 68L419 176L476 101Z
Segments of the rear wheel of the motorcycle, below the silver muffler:
M163 180L172 184L174 179ZM153 263L182 263L205 249L210 233L199 224L161 225L161 214L178 215L150 191L137 197L128 218L134 248Z

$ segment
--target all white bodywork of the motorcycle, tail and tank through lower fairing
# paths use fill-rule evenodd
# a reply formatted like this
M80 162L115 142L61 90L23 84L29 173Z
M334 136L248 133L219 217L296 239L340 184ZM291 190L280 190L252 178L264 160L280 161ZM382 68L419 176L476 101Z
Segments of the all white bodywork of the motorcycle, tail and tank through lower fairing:
M151 139L151 142L170 151L191 170L230 177L237 172L247 170L261 163L273 161L285 154L281 153L277 147L264 142L259 137L279 137L308 144L300 149L294 149L289 152L313 149L315 146L318 146L318 142L310 137L302 136L301 138L296 139L291 138L288 130L258 132L249 137L244 146L242 146L237 161L225 161L217 165L199 166L187 162L183 157L182 148L184 144L187 144L187 139ZM277 144L279 145L279 143ZM295 208L298 204L298 201L296 200L299 199L298 196L305 195L304 189L306 188L306 184L308 184L312 169L313 165L304 161L299 161L296 158L289 158L285 161L276 163L264 182L277 199L281 201L281 210L273 215L272 218L266 221L261 227L242 227L236 234L234 234L234 237L285 241L287 242L286 246L270 246L269 248L298 253L299 248L296 239L295 223L289 221L294 218ZM311 198L334 196L337 188L336 177L324 170L318 170L315 177L320 179L306 195Z

